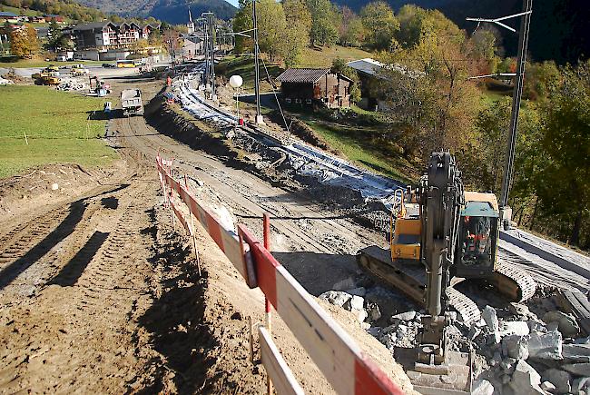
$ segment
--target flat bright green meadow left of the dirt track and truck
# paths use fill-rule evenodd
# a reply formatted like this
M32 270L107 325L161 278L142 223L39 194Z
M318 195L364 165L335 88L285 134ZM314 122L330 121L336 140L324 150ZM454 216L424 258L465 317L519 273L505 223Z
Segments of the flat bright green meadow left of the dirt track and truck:
M87 120L102 110L103 99L19 85L0 86L0 97L0 177L48 163L104 165L116 157L96 139L104 121Z

